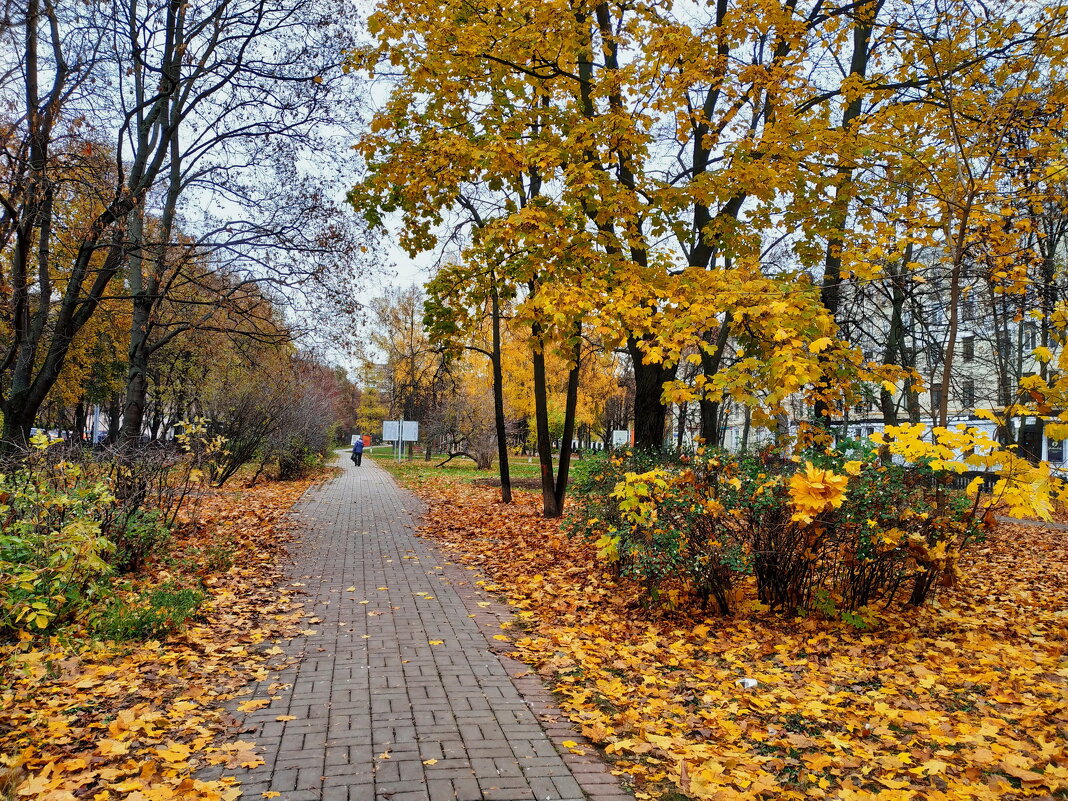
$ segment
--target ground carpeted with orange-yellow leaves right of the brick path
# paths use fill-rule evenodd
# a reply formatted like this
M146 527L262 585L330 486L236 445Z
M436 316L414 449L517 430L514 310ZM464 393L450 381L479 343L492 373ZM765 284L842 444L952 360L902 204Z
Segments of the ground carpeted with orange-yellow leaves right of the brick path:
M519 655L639 798L1068 798L1064 533L1003 527L957 588L857 630L751 598L728 619L651 612L533 496L417 490L426 533L519 609Z

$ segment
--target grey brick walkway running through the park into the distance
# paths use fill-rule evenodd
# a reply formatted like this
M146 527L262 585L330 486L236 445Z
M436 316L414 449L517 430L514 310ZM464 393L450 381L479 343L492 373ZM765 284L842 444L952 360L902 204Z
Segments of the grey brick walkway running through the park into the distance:
M582 738L525 665L494 653L507 610L414 535L420 502L370 459L343 466L296 509L289 576L319 621L287 647L300 661L251 696L288 685L244 718L266 765L240 776L242 799L631 798L560 745Z

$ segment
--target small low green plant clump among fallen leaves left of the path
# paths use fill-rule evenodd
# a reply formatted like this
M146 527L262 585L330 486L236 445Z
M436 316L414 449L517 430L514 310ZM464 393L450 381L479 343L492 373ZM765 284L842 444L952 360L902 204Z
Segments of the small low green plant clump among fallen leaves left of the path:
M200 590L168 582L132 598L112 598L94 621L93 632L107 640L161 640L180 629L203 602Z

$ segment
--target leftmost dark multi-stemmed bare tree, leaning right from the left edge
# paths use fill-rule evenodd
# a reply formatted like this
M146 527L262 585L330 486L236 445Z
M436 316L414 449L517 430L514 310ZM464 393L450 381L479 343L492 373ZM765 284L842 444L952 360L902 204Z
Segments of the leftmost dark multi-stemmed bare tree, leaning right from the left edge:
M5 125L9 169L0 190L3 226L11 232L12 242L5 274L12 334L0 362L7 446L25 441L59 379L70 343L122 268L127 216L143 203L167 158L175 123L167 112L183 98L189 99L188 87L175 74L184 48L174 35L161 35L153 58L164 80L146 96L146 105L120 117L114 129L103 126L101 139L111 130L116 132L112 145L97 148L92 140L79 141L74 128L85 125L96 108L89 88L113 75L112 68L119 69L108 62L100 42L111 32L121 37L136 31L144 20L138 19L136 9L130 10L131 18L121 18L121 11L116 15L112 6L87 11L37 0L13 11L13 23L0 31L9 43L17 42L10 52L17 53L18 60L4 73L0 91L12 100L19 98L13 106L18 111ZM178 11L171 4L150 14L173 34L183 25ZM163 117L164 122L153 134L137 126L138 116L154 122ZM135 131L128 142L127 130ZM110 158L113 169L91 168L97 179L78 185L91 187L92 211L74 233L69 255L54 258L56 203L64 180L69 180L65 176L79 164L108 164ZM52 302L53 297L58 302Z

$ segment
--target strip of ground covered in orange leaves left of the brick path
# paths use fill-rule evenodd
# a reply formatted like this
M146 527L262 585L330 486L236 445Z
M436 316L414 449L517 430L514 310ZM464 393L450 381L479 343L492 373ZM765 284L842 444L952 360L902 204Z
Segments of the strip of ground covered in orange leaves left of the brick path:
M0 799L236 799L204 765L262 764L224 702L267 678L296 634L296 591L277 588L280 524L310 481L213 492L148 582L199 574L198 618L163 642L95 643L78 632L0 646Z

